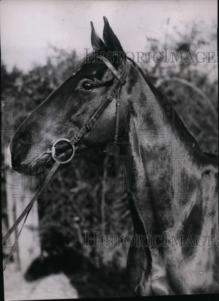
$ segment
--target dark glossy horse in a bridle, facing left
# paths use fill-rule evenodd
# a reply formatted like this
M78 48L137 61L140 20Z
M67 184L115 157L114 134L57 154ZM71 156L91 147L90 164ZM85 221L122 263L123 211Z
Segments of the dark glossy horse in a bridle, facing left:
M41 174L89 147L116 154L138 239L127 260L135 295L218 293L217 156L202 152L103 19L103 40L91 22L93 52L12 138L12 167Z

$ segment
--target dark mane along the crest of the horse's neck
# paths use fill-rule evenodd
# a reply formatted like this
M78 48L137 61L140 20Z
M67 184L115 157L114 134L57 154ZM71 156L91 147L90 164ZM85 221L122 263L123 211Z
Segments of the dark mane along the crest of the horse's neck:
M152 84L152 82L150 81L150 79L148 79L148 77L146 76L146 74L143 72L143 70L138 65L135 65L135 67L140 72L140 74L142 75L143 79L145 80L145 82L147 83L147 85L149 86L149 88L151 89L151 91L153 92L153 94L157 95L158 99L160 101L163 98L167 98L165 95L163 95L163 93L159 89L157 89ZM203 155L204 155L205 160L208 159L208 161L210 161L210 163L212 163L211 161L213 161L214 164L215 164L215 160L216 160L216 163L217 163L218 155L217 154L213 154L211 152L202 151L202 149L201 149L198 141L196 140L196 138L194 137L194 135L192 134L192 132L188 129L188 127L186 126L186 124L184 123L183 119L181 118L181 116L179 115L179 113L177 112L177 110L175 108L174 108L174 122L177 125L179 125L179 128L181 129L181 131L183 131L185 133L185 136L188 139L188 141L191 142L191 143L194 143L194 145L196 146L196 148L195 148L196 152L197 152L197 154L199 154L199 156L201 157L202 160L203 160Z

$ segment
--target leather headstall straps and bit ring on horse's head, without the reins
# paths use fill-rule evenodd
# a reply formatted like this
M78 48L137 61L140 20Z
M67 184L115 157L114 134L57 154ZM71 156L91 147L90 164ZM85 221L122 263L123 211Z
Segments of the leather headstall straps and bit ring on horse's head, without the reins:
M60 162L60 164L65 164L65 163L68 163L69 161L72 160L72 158L75 155L75 146L74 146L74 144L77 143L85 135L86 132L91 131L91 128L94 125L94 123L97 121L97 119L100 117L100 115L106 109L106 107L113 101L113 99L116 97L116 95L117 95L117 99L116 99L116 126L115 126L114 143L116 143L117 140L118 140L119 110L120 110L120 102L121 102L120 92L121 92L122 86L125 85L125 83L126 83L126 79L128 77L129 71L131 69L131 63L132 62L131 61L127 62L127 59L126 59L125 67L122 70L122 73L119 74L119 72L116 70L116 68L114 68L113 65L111 63L109 63L109 61L107 61L107 59L105 57L97 56L97 58L100 58L106 64L106 66L109 68L109 70L113 73L113 75L117 78L116 84L113 86L112 90L107 94L106 98L100 104L100 106L97 108L97 110L95 111L93 116L88 120L87 123L85 123L78 130L78 132L75 133L75 135L73 136L73 138L71 140L66 139L66 138L61 138L61 139L58 139L57 141L54 142L53 146L51 147L51 151L52 151L51 157L52 157L52 160L54 162L57 161L57 159L55 158L55 154L56 154L55 146L60 141L66 141L72 148L72 156L67 161Z

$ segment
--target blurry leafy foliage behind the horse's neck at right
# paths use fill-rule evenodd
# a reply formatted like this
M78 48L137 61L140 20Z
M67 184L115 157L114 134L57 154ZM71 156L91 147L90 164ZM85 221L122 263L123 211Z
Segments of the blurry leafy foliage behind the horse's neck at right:
M217 63L208 62L213 61L209 59L208 52L217 53L217 26L209 27L202 21L190 27L179 24L174 27L173 33L167 20L162 30L163 39L147 39L150 51L167 49L166 52L162 51L161 63L147 64L147 76L164 95L174 101L175 109L202 150L215 152L218 149ZM199 51L204 54L196 57ZM180 59L176 63L171 52L179 58L181 52L184 63L180 63Z

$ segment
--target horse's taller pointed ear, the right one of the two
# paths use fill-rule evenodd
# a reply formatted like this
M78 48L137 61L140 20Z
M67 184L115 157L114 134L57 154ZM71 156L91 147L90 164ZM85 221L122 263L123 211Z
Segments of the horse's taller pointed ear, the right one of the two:
M103 17L104 28L103 28L103 41L105 42L109 51L123 51L122 46L113 32L112 28L109 26L109 22L106 17Z

